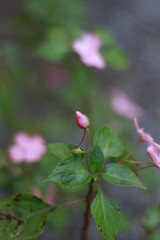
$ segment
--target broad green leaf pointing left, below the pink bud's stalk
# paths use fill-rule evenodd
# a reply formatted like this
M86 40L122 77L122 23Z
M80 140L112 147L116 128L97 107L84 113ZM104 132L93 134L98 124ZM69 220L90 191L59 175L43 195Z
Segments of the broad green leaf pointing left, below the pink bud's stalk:
M91 180L82 159L76 155L65 158L45 181L56 182L64 187L80 187Z

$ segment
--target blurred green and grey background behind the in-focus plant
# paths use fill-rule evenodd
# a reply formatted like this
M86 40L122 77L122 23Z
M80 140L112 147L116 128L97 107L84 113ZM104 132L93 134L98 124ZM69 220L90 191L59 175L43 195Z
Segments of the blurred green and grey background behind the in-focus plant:
M33 164L8 156L17 132L78 144L76 110L90 118L91 135L111 125L126 150L138 141L134 116L160 142L159 12L159 0L0 0L0 200L28 191L45 198L48 189L53 204L85 195L87 187L68 192L43 183L55 156L46 153ZM85 65L73 50L85 32L100 37L105 69ZM149 160L145 146L134 156ZM151 208L160 202L159 172L140 176L147 191L104 186L124 213L117 240L160 237L157 229L148 233L160 225L160 212ZM80 239L83 212L83 204L58 210L38 239ZM88 239L101 239L92 218Z

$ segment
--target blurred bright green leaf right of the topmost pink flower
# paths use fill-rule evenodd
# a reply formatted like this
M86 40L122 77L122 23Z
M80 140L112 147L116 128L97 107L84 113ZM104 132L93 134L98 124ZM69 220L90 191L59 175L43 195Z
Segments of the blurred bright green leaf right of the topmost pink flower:
M129 67L129 60L122 50L117 47L108 48L103 57L116 70L126 70Z

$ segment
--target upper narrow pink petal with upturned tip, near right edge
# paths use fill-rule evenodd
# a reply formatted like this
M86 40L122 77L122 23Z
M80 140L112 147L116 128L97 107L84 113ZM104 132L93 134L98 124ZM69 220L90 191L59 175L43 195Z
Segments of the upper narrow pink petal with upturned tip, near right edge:
M151 145L154 142L149 133L144 132L143 128L139 128L137 118L134 118L134 126L137 129L141 142L146 142L148 145Z

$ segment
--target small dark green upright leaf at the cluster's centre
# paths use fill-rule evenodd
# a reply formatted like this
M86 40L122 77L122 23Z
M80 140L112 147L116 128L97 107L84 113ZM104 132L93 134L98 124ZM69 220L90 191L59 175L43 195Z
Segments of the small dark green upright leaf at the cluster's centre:
M89 166L93 171L100 170L104 165L104 156L98 145L95 145L89 155Z

